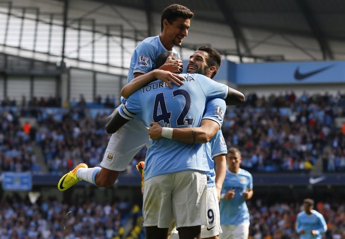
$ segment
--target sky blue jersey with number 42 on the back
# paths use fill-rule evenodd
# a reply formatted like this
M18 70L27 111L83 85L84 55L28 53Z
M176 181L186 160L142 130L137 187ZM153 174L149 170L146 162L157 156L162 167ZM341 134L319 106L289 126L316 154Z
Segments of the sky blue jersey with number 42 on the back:
M154 81L133 93L119 108L128 120L135 115L144 123L158 122L163 127L199 127L206 102L225 99L228 87L199 74L181 74L184 84L170 89ZM167 138L153 140L147 149L144 179L184 170L208 171L203 144L186 144Z

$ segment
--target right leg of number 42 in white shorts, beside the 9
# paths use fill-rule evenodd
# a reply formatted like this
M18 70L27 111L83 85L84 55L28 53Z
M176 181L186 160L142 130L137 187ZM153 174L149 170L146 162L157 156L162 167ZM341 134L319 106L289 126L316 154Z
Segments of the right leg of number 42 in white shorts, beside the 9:
M196 170L173 175L172 208L179 238L200 238L201 225L207 224L206 175Z

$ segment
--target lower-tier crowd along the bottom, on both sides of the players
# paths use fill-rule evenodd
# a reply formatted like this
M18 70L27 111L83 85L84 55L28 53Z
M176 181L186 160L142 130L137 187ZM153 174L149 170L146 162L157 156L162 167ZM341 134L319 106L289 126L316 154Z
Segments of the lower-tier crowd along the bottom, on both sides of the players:
M144 238L139 206L131 205L127 200L99 203L81 198L73 203L39 198L31 204L27 199L7 197L0 206L0 238ZM247 204L250 239L298 238L294 225L297 213L302 210L300 203L267 205L256 199ZM327 222L325 239L345 238L344 202L319 201L315 209ZM131 229L127 230L129 235L125 237L128 219Z

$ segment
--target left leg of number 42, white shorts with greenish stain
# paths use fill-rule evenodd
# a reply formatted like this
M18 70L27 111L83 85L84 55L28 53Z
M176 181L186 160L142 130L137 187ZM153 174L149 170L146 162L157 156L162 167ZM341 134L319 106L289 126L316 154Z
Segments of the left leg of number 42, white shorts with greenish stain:
M162 174L148 178L144 183L142 226L148 233L146 238L166 239L167 230L173 218L171 181L171 174Z

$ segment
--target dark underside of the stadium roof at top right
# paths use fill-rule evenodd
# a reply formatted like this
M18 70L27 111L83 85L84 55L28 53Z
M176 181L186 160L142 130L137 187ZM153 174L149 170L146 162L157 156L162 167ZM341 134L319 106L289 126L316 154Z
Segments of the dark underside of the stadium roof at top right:
M343 0L116 0L98 2L161 13L169 4L181 4L195 19L227 24L242 47L250 53L243 29L263 30L313 38L322 59L345 59L345 1ZM298 42L291 43L295 47ZM320 60L320 59L317 59Z

